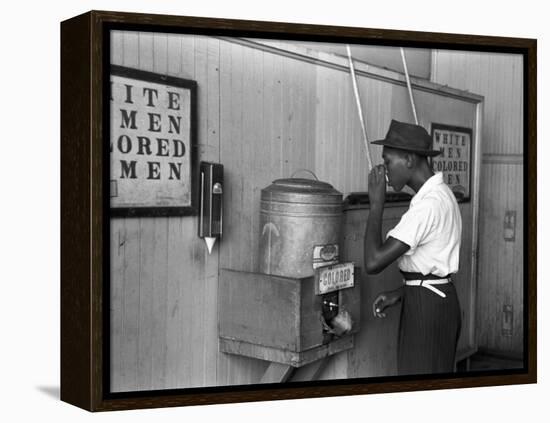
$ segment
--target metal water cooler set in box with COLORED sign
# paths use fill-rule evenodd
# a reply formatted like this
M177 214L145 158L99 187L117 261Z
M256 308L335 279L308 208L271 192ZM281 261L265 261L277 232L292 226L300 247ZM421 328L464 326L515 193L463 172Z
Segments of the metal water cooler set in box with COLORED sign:
M341 221L326 182L262 190L259 272L220 270L221 351L301 367L353 347L360 295L353 264L339 263Z

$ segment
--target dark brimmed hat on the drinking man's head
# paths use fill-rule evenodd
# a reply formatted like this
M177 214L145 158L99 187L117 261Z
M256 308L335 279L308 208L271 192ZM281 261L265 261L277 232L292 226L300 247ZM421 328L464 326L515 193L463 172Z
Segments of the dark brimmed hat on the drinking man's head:
M441 151L432 149L432 138L422 126L399 122L395 119L390 123L386 138L373 141L371 144L411 151L421 156L441 154Z

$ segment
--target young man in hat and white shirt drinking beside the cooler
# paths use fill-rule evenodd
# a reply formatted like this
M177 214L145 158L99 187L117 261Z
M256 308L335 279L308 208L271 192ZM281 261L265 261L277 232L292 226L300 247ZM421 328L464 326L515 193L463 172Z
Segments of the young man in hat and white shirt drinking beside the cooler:
M461 316L451 275L458 271L462 219L455 196L428 163L432 140L421 126L392 120L383 145L384 165L369 174L370 213L365 232L367 273L381 272L397 260L403 286L383 292L373 303L376 317L402 302L398 373L454 370ZM400 222L382 238L386 176L395 191L415 191Z

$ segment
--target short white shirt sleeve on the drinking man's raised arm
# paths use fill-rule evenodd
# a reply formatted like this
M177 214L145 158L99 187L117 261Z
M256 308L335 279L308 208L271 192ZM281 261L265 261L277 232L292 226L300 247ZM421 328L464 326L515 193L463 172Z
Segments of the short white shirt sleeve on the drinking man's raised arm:
M422 245L434 227L435 207L433 201L423 201L405 212L401 220L386 237L398 239L410 248L405 255L414 253L419 245Z

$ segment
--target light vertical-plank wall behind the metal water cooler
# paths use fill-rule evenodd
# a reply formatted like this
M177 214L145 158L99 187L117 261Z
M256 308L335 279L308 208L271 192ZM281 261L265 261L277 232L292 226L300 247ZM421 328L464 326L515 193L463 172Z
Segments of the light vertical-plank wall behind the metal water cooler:
M366 190L368 168L347 60L340 58L335 69L292 55L286 43L266 47L134 31L115 31L111 46L113 64L197 81L198 160L221 162L225 173L224 234L212 255L196 235L196 218L111 219L111 388L255 383L268 363L219 352L218 270L258 271L260 191L274 179L309 169L344 195ZM412 120L400 77L385 73L386 80L358 77L371 140L384 136L392 118ZM425 126L474 126L473 103L431 91L417 92L416 99ZM375 163L381 162L380 150L372 148ZM465 222L472 221L471 208L461 206ZM466 273L469 248L471 233L464 237ZM370 304L373 288L367 280L362 284L364 304ZM459 294L469 292L463 286ZM461 297L466 309L469 301L469 295ZM381 331L377 344L385 348L396 333ZM322 378L347 377L348 370L352 376L387 374L386 354L374 354L382 357L376 362L363 354L372 350L371 338L363 333L357 340L358 355L368 365L348 369L340 357ZM463 338L462 344L469 342Z

